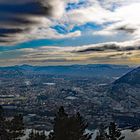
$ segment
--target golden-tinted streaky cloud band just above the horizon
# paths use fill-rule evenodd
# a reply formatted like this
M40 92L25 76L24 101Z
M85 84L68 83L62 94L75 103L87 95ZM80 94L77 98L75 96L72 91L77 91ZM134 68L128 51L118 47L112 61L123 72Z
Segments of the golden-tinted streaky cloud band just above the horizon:
M110 42L85 46L43 46L39 48L25 48L0 53L0 65L31 64L31 65L61 65L114 63L139 64L140 40L131 42ZM18 58L18 59L17 59ZM120 61L121 60L121 61Z

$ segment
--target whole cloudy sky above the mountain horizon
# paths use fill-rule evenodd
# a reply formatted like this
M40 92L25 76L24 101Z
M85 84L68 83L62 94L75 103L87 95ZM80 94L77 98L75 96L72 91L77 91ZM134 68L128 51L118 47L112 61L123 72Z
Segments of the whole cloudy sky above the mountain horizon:
M0 66L140 64L140 0L0 0Z

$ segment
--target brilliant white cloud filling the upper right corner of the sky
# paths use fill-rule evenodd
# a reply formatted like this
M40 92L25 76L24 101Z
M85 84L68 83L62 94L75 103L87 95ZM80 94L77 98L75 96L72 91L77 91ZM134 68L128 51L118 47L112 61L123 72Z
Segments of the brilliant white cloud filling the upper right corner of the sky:
M72 26L93 22L104 27L105 23L112 23L104 27L103 30L97 32L102 35L113 35L117 31L115 27L128 26L136 28L134 36L139 37L140 34L140 0L88 0L88 7L73 9L65 13L62 24ZM107 7L113 7L113 9ZM113 29L114 28L114 29Z

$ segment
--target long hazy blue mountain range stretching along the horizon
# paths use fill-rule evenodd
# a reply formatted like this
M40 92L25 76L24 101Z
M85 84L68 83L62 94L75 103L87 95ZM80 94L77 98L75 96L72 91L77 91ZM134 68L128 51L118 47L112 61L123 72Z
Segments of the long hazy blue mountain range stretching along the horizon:
M30 66L21 65L0 68L2 70L16 70L23 74L52 74L83 77L100 77L116 79L133 68L126 65L90 64L70 66ZM12 73L11 73L12 74Z

